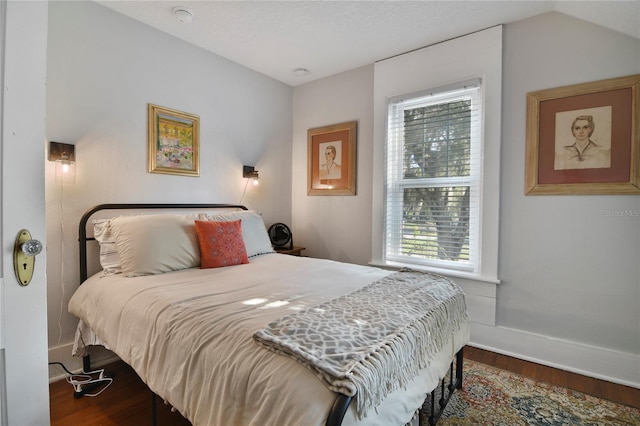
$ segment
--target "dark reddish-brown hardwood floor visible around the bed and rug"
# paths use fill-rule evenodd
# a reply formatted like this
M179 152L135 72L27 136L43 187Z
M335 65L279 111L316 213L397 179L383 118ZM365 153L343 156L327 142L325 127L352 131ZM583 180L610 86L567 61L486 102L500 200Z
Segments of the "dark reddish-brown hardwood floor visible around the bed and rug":
M586 394L640 408L640 389L616 385L566 371L545 367L473 347L465 348L465 358L512 371L536 380L568 387ZM151 424L151 392L124 363L107 367L115 373L113 384L101 395L73 397L73 387L62 380L50 385L52 426L127 426ZM189 426L178 413L157 400L158 426Z

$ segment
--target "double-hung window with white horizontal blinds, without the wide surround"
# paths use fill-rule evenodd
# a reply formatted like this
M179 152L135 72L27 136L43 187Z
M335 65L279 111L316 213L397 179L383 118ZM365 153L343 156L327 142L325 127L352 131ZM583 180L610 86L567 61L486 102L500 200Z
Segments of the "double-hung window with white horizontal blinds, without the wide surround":
M481 81L390 99L387 262L477 274Z

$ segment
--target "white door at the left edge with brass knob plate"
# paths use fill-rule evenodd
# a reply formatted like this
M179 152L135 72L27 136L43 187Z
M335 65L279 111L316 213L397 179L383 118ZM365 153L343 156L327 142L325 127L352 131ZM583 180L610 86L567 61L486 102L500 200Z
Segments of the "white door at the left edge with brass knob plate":
M0 1L0 391L4 425L49 424L45 250L21 286L13 246L21 229L45 245L47 2Z

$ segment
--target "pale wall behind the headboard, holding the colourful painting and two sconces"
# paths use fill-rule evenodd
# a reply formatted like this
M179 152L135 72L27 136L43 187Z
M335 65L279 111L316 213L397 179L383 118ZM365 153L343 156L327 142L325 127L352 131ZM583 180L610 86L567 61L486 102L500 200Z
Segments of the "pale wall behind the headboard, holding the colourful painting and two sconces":
M93 2L51 2L47 139L76 146L75 184L47 162L49 348L69 353L78 220L99 203L238 203L291 220L291 87ZM147 173L147 103L200 116L200 177ZM69 361L70 362L70 361Z

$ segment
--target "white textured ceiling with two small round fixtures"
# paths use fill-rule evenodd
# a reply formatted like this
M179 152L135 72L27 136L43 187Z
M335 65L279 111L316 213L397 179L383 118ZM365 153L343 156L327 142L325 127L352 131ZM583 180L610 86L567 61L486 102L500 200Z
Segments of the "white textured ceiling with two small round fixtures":
M549 11L640 39L640 0L97 3L291 86ZM179 22L176 6L193 21ZM296 75L299 68L308 73Z

